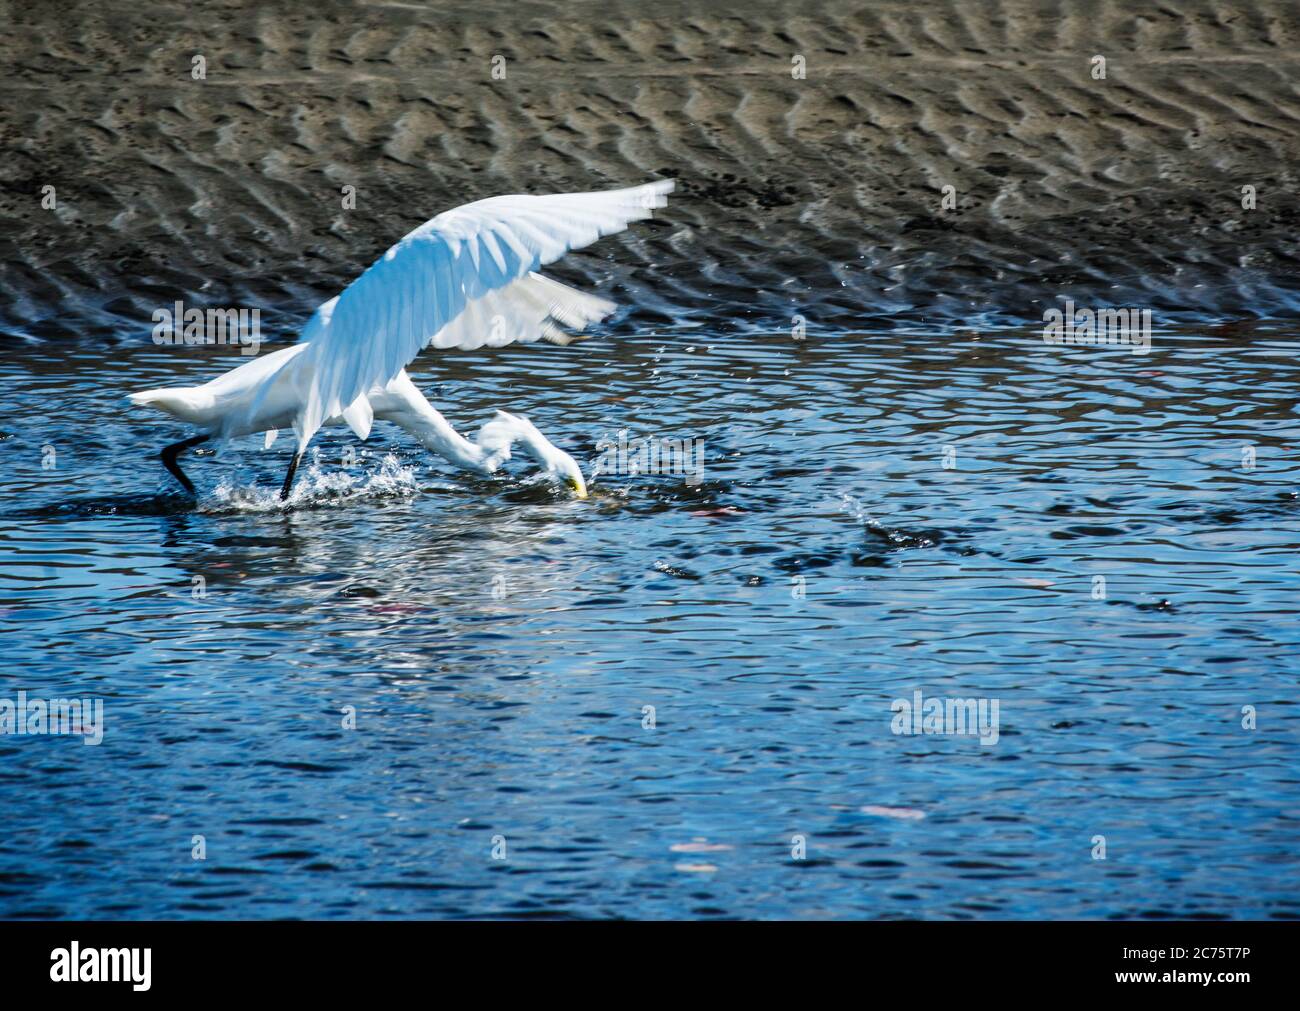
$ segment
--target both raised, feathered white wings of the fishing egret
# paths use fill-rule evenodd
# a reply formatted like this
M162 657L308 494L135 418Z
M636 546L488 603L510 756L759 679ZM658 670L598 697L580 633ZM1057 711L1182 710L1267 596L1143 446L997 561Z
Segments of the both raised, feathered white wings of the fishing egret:
M308 321L299 441L390 382L428 344L563 339L556 322L602 318L611 303L543 278L537 268L650 217L672 186L494 196L417 227Z

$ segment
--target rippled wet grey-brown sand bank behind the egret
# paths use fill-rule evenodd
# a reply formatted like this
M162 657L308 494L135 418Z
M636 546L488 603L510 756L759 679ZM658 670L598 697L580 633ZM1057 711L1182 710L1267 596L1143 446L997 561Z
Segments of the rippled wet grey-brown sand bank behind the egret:
M10 334L289 333L447 207L668 175L559 272L638 325L1300 308L1290 3L4 6Z

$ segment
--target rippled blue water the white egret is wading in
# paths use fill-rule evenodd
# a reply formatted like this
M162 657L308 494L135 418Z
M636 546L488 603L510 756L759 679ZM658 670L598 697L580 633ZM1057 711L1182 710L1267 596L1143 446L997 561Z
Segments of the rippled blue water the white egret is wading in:
M0 737L0 916L1300 915L1294 331L413 370L585 463L705 441L701 485L586 502L381 425L350 469L325 433L287 511L254 439L188 460L190 504L153 456L185 431L122 396L230 364L0 357L0 697L105 711L98 747ZM997 742L894 734L916 690L996 699Z

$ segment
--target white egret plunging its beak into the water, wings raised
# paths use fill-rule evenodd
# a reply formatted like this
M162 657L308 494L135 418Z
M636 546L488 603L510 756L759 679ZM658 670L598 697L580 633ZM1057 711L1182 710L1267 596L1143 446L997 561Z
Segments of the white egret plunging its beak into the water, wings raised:
M519 442L580 498L577 463L525 418L499 411L471 442L411 382L406 366L426 346L473 350L530 340L568 343L614 312L614 303L542 277L537 268L623 231L667 204L671 181L588 194L494 196L425 222L321 305L292 347L263 355L203 386L130 394L200 429L162 450L166 469L194 493L177 456L208 439L292 429L294 456L281 489L324 425L367 439L374 418L393 421L452 464L491 473Z

